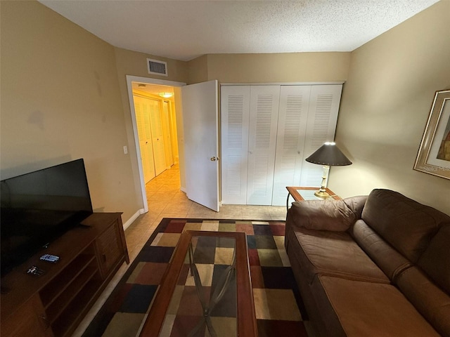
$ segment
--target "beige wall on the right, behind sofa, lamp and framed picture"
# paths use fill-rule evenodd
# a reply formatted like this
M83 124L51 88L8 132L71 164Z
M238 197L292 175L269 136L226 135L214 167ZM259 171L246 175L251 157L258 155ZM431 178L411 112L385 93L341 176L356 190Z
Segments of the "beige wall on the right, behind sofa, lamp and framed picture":
M450 1L352 53L336 143L354 161L332 168L343 197L389 188L450 213L450 180L413 171L435 91L450 88Z

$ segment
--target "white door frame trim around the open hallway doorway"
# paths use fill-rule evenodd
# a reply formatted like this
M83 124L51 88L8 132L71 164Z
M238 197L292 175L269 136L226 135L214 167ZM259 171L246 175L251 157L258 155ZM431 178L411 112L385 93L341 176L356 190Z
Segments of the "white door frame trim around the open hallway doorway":
M141 197L143 204L143 213L148 212L148 202L147 202L147 193L146 193L146 183L143 178L143 168L141 161L141 148L139 147L139 135L138 135L138 127L136 124L136 112L134 110L134 100L133 100L133 87L131 82L141 82L146 84L160 84L162 86L186 86L184 82L176 82L176 81L167 81L165 79L152 79L149 77L140 77L140 76L132 76L126 75L127 77L127 88L128 88L128 100L129 100L129 110L131 114L131 123L133 124L133 135L134 135L134 147L136 148L136 157L138 161L138 169L139 169L139 181L141 185Z

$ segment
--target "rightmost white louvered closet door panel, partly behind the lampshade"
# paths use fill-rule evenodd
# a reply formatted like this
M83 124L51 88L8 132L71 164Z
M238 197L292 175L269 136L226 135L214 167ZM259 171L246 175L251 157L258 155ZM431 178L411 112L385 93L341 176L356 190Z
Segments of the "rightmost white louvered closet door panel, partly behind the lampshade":
M342 84L311 86L302 176L300 178L301 186L319 187L321 185L323 167L311 164L304 159L319 149L323 143L334 140L341 91Z

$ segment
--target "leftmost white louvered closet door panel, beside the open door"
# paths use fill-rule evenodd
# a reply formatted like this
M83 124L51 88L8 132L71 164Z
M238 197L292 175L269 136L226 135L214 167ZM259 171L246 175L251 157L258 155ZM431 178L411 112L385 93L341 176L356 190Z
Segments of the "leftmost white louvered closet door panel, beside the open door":
M247 202L250 86L221 87L221 182L224 204Z

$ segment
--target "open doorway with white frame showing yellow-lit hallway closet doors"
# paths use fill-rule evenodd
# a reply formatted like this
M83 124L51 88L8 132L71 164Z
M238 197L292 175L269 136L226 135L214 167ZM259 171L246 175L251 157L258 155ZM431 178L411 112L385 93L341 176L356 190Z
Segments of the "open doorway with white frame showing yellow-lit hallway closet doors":
M182 82L127 75L131 121L143 200L142 213L148 211L146 183L174 164L179 164L181 190L184 190L184 155L182 146L179 146L180 138L182 143L183 127L181 108L177 111L176 107L179 106L179 97L177 97L179 88L185 85ZM162 97L162 93L172 95ZM139 104L135 103L136 96L139 97Z

